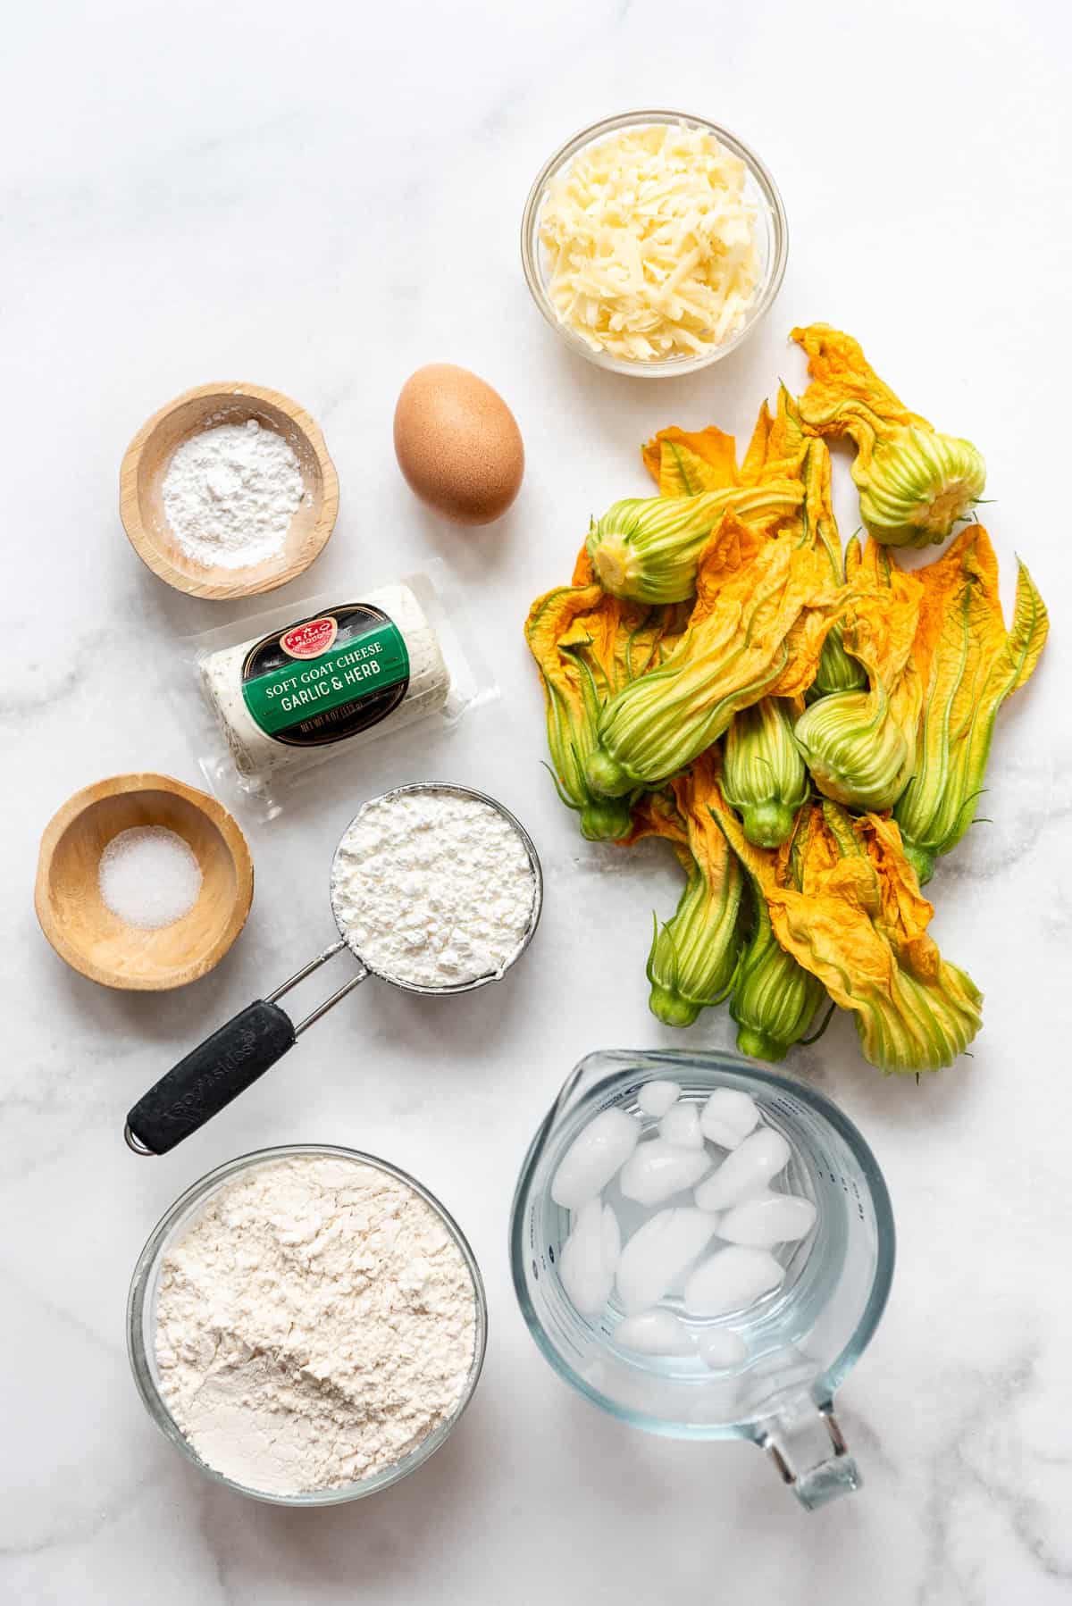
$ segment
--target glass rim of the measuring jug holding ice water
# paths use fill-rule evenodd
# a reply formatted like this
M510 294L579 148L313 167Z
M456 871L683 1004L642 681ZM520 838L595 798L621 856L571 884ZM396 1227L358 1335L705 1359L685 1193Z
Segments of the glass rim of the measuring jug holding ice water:
M816 1404L828 1407L833 1402L837 1386L844 1381L849 1372L852 1372L857 1360L871 1343L889 1299L890 1283L894 1280L894 1264L897 1259L897 1232L894 1227L894 1206L890 1203L889 1188L886 1185L886 1177L879 1169L879 1163L871 1153L871 1147L865 1140L863 1134L831 1099L820 1094L815 1087L808 1087L805 1082L792 1081L757 1060L744 1058L744 1055L733 1054L726 1049L698 1049L694 1052L686 1049L596 1049L593 1054L587 1054L583 1060L575 1065L563 1084L561 1092L554 1099L554 1103L545 1115L532 1143L529 1145L529 1152L518 1176L518 1187L514 1190L514 1201L509 1213L509 1269L514 1283L514 1294L540 1354L551 1363L554 1372L558 1372L558 1375L569 1383L571 1388L577 1389L579 1394L583 1394L593 1405L598 1405L611 1416L617 1416L619 1421L630 1423L633 1428L643 1428L644 1433L656 1433L670 1439L710 1441L747 1437L747 1433L734 1425L704 1425L698 1428L685 1423L667 1423L654 1416L644 1416L640 1412L624 1410L612 1399L608 1399L608 1396L601 1394L566 1365L559 1352L546 1338L543 1323L529 1298L526 1285L527 1257L524 1238L535 1164L543 1152L546 1135L556 1121L559 1108L564 1110L569 1107L569 1097L574 1086L596 1063L606 1065L606 1074L585 1090L582 1095L583 1100L588 1100L595 1094L606 1089L609 1081L630 1073L649 1071L651 1076L657 1076L659 1071L664 1070L665 1074L670 1076L675 1066L680 1068L683 1065L693 1066L699 1071L709 1070L712 1073L717 1073L718 1070L730 1070L738 1074L744 1074L752 1081L778 1089L779 1092L791 1094L802 1103L810 1105L816 1115L823 1116L824 1121L829 1121L837 1135L849 1145L860 1164L874 1201L879 1245L874 1266L874 1282L871 1283L871 1291L860 1314L860 1320L857 1322L853 1335L845 1347L834 1357L820 1380L823 1391L826 1392L826 1399L816 1399Z

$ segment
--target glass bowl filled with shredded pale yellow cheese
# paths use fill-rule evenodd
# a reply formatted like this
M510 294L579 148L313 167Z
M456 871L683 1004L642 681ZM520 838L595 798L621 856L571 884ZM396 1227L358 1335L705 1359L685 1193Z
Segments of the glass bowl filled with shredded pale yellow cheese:
M760 159L673 111L583 128L540 170L521 225L546 321L599 368L653 379L733 352L778 294L786 252Z

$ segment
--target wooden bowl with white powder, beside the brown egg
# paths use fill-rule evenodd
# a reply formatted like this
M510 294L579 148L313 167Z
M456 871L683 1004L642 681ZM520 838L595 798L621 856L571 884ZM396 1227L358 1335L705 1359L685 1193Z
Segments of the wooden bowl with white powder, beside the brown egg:
M249 597L325 548L339 479L309 413L280 390L198 385L133 437L119 517L138 557L177 591Z

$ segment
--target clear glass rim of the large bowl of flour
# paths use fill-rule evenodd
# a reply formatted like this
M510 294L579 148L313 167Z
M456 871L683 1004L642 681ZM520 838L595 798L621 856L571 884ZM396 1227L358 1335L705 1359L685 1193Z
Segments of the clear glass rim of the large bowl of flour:
M145 1352L143 1338L143 1314L145 1301L153 1286L153 1280L158 1270L161 1251L164 1243L175 1225L175 1222L194 1204L206 1200L215 1188L236 1176L239 1171L249 1171L254 1166L265 1164L273 1160L286 1160L293 1155L326 1155L336 1160L352 1160L363 1166L374 1166L378 1171L387 1172L387 1176L395 1177L407 1187L413 1188L419 1198L424 1200L431 1209L436 1211L444 1227L456 1243L466 1269L473 1278L473 1293L476 1302L476 1343L473 1346L473 1363L469 1367L469 1375L461 1392L461 1399L455 1407L453 1415L448 1421L440 1423L439 1428L429 1433L428 1439L410 1450L400 1461L394 1466L386 1468L376 1478L366 1478L360 1482L346 1484L341 1489L318 1489L309 1494L297 1495L278 1495L267 1494L262 1489L249 1489L246 1484L235 1482L235 1479L227 1478L223 1473L217 1473L215 1468L207 1466L196 1453L193 1445L186 1441L182 1429L172 1418L167 1405L161 1399L161 1394L153 1381L153 1372L149 1367L149 1357ZM133 1277L130 1278L130 1291L127 1296L127 1355L130 1360L130 1370L133 1372L133 1381L137 1384L141 1402L148 1410L149 1416L161 1429L164 1437L174 1444L182 1453L191 1461L199 1473L212 1479L215 1484L222 1484L225 1489L233 1489L239 1495L248 1495L252 1500L264 1500L268 1505L283 1506L326 1506L326 1505L342 1505L347 1500L363 1500L366 1495L379 1494L381 1489L391 1489L392 1484L400 1482L415 1473L418 1466L423 1466L436 1450L447 1442L450 1434L458 1426L464 1408L468 1407L476 1386L481 1380L481 1372L484 1367L484 1355L487 1352L487 1294L484 1291L484 1278L481 1277L481 1267L476 1262L476 1256L469 1248L469 1241L463 1233L458 1222L453 1219L450 1211L440 1204L434 1193L431 1193L416 1177L411 1177L408 1171L400 1166L391 1164L389 1160L381 1160L378 1155L366 1155L358 1148L346 1148L339 1143L283 1143L276 1148L257 1148L248 1155L238 1155L235 1160L225 1161L214 1171L206 1172L198 1182L191 1184L185 1193L182 1193L175 1203L161 1216L156 1227L149 1233L141 1254L138 1256L137 1266L133 1269Z

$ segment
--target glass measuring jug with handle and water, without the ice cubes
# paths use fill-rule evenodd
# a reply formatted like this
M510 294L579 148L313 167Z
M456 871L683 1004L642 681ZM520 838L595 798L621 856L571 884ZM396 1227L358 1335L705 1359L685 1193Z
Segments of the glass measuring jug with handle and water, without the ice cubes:
M749 1094L767 1126L792 1150L784 1185L816 1206L813 1233L773 1253L781 1288L747 1312L694 1330L731 1328L747 1357L723 1372L698 1357L640 1355L614 1343L611 1302L580 1315L558 1275L569 1213L551 1180L577 1134L601 1110L619 1108L646 1127L638 1094L665 1079L702 1103L715 1087ZM509 1227L514 1290L526 1322L554 1370L622 1421L678 1439L747 1439L771 1457L808 1510L860 1486L834 1418L834 1391L868 1344L894 1272L894 1216L882 1174L855 1126L821 1094L720 1050L591 1054L574 1070L521 1169ZM673 1299L670 1301L673 1304Z

